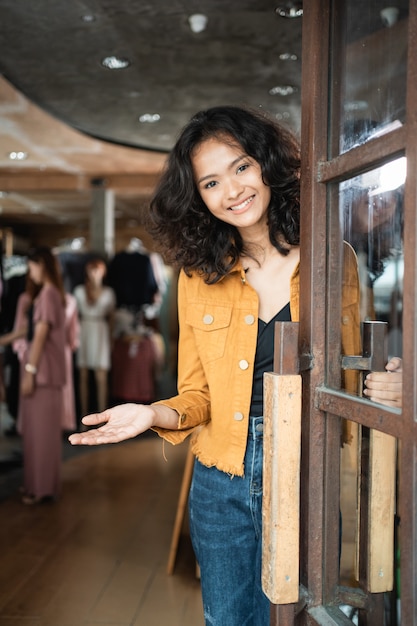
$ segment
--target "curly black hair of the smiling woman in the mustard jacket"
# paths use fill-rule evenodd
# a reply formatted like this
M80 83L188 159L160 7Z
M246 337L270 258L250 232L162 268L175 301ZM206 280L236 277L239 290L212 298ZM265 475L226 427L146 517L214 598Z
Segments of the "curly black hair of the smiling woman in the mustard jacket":
M195 149L210 138L238 143L261 167L271 189L268 227L283 255L299 244L300 149L292 132L266 114L235 106L197 113L181 132L151 200L147 229L168 262L196 271L207 283L227 274L243 252L238 230L216 217L201 199L193 177Z

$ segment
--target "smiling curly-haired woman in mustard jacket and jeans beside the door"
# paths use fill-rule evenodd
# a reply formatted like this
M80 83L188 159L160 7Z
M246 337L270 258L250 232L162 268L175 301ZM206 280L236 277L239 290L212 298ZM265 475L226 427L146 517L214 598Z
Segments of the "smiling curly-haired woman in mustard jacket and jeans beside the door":
M275 321L298 321L299 167L297 141L264 114L215 107L189 122L150 213L151 233L181 268L178 395L87 416L84 424L104 425L70 437L110 443L153 428L180 443L192 435L190 530L207 624L269 624L262 379L273 370ZM350 247L346 256L344 280L354 285ZM357 303L357 291L345 290L345 350L359 330Z

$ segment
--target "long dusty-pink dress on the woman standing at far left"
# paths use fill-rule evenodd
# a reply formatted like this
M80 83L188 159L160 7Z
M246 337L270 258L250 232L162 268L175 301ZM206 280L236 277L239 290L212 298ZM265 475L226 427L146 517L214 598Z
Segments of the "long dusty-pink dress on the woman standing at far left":
M20 399L24 488L37 498L56 498L61 491L65 308L52 285L45 285L34 302L34 325L39 321L48 322L49 332L38 363L35 391Z

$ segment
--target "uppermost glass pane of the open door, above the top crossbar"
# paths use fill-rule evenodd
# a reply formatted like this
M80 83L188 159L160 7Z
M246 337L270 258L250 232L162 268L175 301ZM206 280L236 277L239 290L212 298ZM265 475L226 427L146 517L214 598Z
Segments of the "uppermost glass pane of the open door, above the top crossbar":
M337 5L344 19L334 45L344 44L334 59L340 89L333 90L333 120L339 151L345 152L405 122L408 2L388 7L390 12L384 0Z

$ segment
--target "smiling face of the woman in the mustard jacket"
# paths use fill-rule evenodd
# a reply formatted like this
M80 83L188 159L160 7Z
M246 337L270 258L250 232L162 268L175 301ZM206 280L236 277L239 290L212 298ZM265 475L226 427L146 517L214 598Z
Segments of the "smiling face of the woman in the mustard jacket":
M245 238L254 229L267 229L271 190L259 163L239 144L226 141L207 139L194 150L194 180L210 213Z

